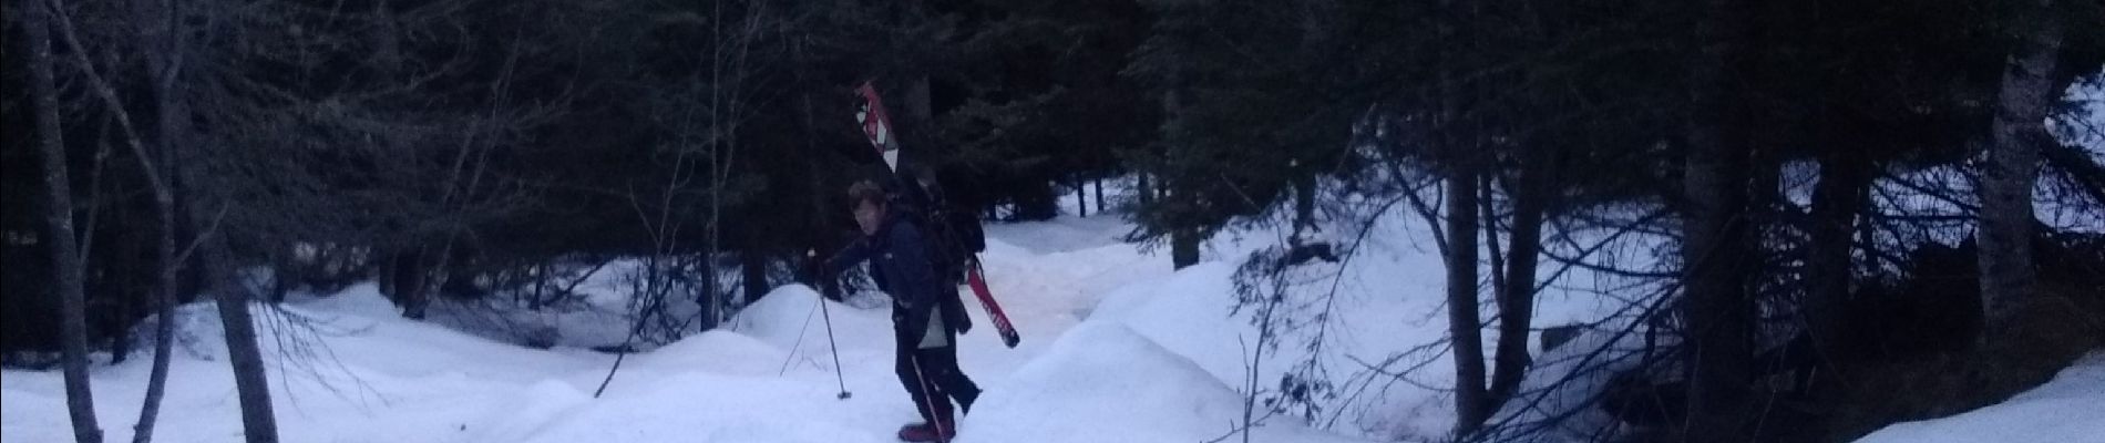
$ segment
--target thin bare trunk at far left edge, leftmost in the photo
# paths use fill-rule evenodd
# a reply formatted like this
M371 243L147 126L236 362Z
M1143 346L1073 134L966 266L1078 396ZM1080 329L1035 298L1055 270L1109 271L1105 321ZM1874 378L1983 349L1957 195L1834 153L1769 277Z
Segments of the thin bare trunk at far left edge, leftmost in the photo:
M51 8L46 2L23 2L23 29L29 34L29 88L36 94L36 130L44 157L44 241L51 248L53 292L59 296L59 344L65 357L65 409L74 420L74 441L103 441L95 424L95 395L88 388L88 315L82 286L80 250L74 237L74 187L65 170L65 134L59 126L59 94L53 82ZM78 48L76 48L78 50Z

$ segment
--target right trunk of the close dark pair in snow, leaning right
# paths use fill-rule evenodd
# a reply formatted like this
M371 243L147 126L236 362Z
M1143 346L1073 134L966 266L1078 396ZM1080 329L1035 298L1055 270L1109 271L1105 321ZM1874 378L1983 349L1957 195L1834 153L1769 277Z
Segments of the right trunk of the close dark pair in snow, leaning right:
M1532 359L1528 330L1535 325L1535 269L1543 241L1543 212L1549 199L1543 174L1549 166L1522 164L1513 191L1513 227L1507 235L1505 288L1499 288L1499 351L1495 351L1490 397L1505 403L1520 388Z

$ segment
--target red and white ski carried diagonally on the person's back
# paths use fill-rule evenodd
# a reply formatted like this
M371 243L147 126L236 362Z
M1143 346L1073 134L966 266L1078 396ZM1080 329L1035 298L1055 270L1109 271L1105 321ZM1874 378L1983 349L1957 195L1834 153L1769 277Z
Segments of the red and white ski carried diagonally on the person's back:
M863 82L863 86L855 88L855 92L863 97L861 109L855 113L855 120L863 124L863 136L869 136L869 147L878 149L878 157L884 157L884 168L893 174L893 181L897 181L897 185L905 189L907 195L928 199L928 195L916 193L914 189L918 189L920 185L905 178L903 176L905 172L899 170L899 139L893 132L893 120L884 111L884 101L878 97L878 88L871 86L869 82ZM916 202L916 204L920 204L924 210L930 212L941 210L935 208L935 202ZM937 218L937 214L928 216L933 220ZM962 246L958 239L954 239L956 235L954 229L937 229L926 223L922 225L922 229L937 231L937 235L951 235L945 237L945 244ZM987 317L994 319L994 330L1002 334L1002 344L1015 349L1017 342L1021 342L1023 338L1017 336L1017 328L1008 323L1008 315L1002 313L1002 304L994 302L994 294L987 290L987 279L979 267L979 256L975 254L975 250L964 250L964 262L958 265L964 269L964 279L973 288L973 296L979 298L979 307L987 309Z

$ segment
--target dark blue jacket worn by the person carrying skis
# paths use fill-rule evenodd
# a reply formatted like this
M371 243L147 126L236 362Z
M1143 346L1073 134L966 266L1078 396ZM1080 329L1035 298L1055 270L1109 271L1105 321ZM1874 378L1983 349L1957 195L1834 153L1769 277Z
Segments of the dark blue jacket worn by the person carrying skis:
M918 338L941 302L941 275L928 256L920 229L901 212L884 216L876 235L863 235L825 262L827 275L869 260L869 279L893 296L893 330L901 340Z

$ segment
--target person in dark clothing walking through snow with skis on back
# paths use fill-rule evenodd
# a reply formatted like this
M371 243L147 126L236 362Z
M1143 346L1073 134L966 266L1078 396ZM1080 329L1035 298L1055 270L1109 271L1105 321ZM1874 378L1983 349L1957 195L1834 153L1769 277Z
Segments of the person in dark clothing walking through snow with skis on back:
M958 435L951 414L951 399L958 409L973 412L979 386L958 370L956 334L960 321L945 321L945 294L956 298L956 286L943 290L951 279L937 269L930 241L903 208L893 208L886 191L871 181L848 187L855 204L855 225L863 237L855 239L823 271L838 275L848 267L869 260L869 277L893 296L893 336L899 344L899 382L914 397L920 424L899 428L901 441L949 441Z

